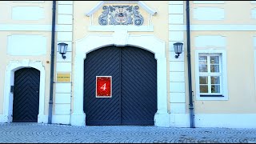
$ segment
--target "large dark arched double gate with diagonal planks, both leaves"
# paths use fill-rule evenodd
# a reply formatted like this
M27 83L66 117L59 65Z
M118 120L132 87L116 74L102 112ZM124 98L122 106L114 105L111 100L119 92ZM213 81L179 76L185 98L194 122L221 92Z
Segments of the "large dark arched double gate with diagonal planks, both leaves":
M96 76L112 76L112 98L96 98ZM133 46L108 46L86 54L86 125L154 125L157 62Z

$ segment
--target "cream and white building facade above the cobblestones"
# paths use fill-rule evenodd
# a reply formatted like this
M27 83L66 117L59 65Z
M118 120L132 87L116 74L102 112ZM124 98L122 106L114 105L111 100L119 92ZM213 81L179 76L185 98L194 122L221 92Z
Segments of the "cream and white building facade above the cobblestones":
M254 1L1 1L0 10L0 122L256 127Z

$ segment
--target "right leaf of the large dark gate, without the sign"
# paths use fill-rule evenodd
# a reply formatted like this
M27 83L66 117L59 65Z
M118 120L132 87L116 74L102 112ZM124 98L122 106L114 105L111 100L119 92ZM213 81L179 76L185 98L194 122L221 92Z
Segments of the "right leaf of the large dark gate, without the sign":
M122 49L122 125L154 125L157 61L135 47Z

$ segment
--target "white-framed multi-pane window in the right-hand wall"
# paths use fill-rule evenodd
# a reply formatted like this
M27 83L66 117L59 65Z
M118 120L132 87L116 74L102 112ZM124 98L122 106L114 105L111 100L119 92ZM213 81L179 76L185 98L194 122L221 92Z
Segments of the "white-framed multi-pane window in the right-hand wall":
M197 100L228 100L226 51L196 50L195 77Z

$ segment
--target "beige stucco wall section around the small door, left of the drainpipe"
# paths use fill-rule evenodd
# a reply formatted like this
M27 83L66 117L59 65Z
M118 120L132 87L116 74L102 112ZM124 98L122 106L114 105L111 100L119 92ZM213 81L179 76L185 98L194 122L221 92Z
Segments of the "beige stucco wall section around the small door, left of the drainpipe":
M13 20L11 10L15 6L39 6L44 10L44 18L38 21L27 21L27 20ZM51 18L52 18L52 2L11 2L11 1L1 1L0 2L0 24L2 25L49 25L51 27ZM0 114L3 114L3 101L4 101L4 87L5 87L5 74L6 74L6 66L9 65L10 61L22 61L23 59L30 59L30 61L41 61L42 66L44 66L46 70L46 88L45 88L45 114L48 114L48 101L50 94L50 42L51 42L51 32L50 31L24 31L17 30L17 27L11 27L14 30L1 31L0 33L0 41L1 44L1 53L0 58ZM7 54L7 37L13 34L35 34L42 35L46 37L46 54L38 55L38 56L12 56ZM46 63L49 61L49 63Z

